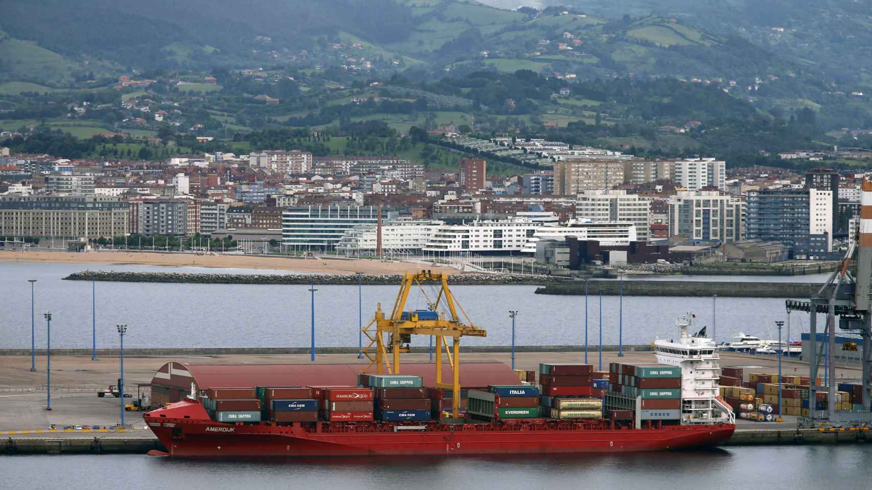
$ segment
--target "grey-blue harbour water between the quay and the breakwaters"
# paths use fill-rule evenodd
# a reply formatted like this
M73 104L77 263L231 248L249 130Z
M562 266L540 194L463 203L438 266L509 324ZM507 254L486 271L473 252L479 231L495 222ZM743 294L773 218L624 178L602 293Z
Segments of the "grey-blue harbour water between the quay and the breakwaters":
M290 273L243 269L153 267L139 265L65 265L0 262L0 348L31 346L31 288L37 279L37 346L45 346L43 312L51 311L52 347L90 347L92 340L92 284L61 280L85 269L112 271L179 271L212 273ZM820 282L826 274L786 277L690 277L668 280L755 280ZM645 280L645 279L633 279ZM115 325L129 326L126 347L307 347L310 345L310 292L307 285L198 285L108 283L96 285L97 345L118 345ZM317 346L357 346L358 286L319 285L316 292ZM583 343L583 296L535 295L535 286L456 286L460 305L487 338L465 339L464 344L508 346L511 342L509 310L518 310L516 344L519 346L580 345ZM363 288L363 319L367 323L378 302L390 311L398 286ZM433 291L428 291L433 295ZM617 297L603 297L603 344L648 344L658 336L676 332L675 320L684 312L696 314L695 325L712 326L711 298L624 297L619 322ZM413 290L407 309L426 308L426 296ZM600 299L588 298L589 345L599 341ZM717 299L717 339L729 340L739 331L773 338L775 320L786 317L784 299ZM791 337L807 332L807 316L794 313ZM822 318L821 318L822 321ZM787 332L785 332L787 335ZM413 345L426 346L426 338Z

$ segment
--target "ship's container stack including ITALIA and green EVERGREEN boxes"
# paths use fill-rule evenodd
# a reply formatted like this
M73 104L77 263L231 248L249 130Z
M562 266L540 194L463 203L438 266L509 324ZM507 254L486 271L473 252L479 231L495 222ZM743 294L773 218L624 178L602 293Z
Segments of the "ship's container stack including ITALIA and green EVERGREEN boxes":
M487 392L467 393L467 417L497 421L538 416L539 389L535 386L492 385L487 386Z

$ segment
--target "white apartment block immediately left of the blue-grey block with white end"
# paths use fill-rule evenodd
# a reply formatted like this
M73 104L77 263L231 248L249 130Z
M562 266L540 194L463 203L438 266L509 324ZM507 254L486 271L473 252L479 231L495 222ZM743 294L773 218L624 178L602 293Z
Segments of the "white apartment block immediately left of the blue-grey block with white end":
M691 242L745 239L745 201L719 191L678 191L669 200L669 236Z

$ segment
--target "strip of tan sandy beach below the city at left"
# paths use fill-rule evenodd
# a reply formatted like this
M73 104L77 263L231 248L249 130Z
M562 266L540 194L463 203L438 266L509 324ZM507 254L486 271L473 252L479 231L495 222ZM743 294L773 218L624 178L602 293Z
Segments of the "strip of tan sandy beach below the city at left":
M324 274L397 274L426 268L457 273L457 269L429 267L408 262L379 262L367 259L252 257L245 255L196 255L155 252L0 252L0 262L46 262L56 264L164 265L167 267L215 267ZM0 265L2 267L2 265Z

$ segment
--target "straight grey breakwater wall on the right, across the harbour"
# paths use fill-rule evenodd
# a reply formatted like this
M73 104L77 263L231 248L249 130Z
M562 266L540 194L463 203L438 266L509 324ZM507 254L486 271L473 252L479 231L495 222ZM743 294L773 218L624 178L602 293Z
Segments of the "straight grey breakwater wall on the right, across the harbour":
M816 293L820 284L766 283L766 282L714 282L714 281L616 281L588 282L588 294L616 296L623 289L624 296L713 296L735 298L808 298ZM623 283L623 284L622 284ZM583 295L584 281L565 281L536 289L536 294Z

